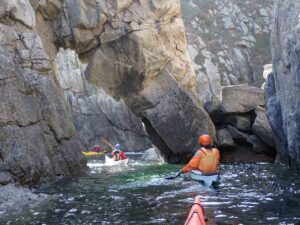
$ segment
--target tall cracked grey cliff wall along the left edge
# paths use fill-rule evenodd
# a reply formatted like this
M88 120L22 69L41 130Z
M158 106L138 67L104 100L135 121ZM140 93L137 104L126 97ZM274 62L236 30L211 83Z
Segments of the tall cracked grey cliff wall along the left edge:
M78 173L85 160L70 109L32 30L34 11L28 2L14 4L0 3L0 184L31 185Z

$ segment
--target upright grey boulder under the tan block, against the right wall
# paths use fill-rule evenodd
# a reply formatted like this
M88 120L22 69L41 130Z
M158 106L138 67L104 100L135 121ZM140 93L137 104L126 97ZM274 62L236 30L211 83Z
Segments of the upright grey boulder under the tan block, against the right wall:
M252 126L253 133L267 145L275 147L274 134L266 117L266 109L263 107L257 107L255 109L255 114L256 119Z

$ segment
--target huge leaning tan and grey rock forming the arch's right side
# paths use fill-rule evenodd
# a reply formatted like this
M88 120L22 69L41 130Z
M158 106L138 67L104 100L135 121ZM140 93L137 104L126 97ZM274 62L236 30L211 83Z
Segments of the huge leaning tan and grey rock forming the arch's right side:
M195 74L179 2L155 1L151 10L147 2L133 1L114 17L113 26L107 24L86 75L89 82L124 99L148 132L153 131L150 139L168 161L185 161L182 156L197 148L197 136L215 136L215 128L193 94ZM131 15L127 23L122 15Z

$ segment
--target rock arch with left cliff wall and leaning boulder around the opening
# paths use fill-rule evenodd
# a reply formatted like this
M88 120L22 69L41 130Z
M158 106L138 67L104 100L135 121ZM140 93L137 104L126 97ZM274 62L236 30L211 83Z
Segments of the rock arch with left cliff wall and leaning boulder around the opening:
M0 30L1 184L35 184L84 167L84 147L55 78L59 47L74 49L88 63L88 82L143 120L166 160L184 161L195 137L215 134L193 94L179 1L4 0ZM112 110L109 99L96 98Z

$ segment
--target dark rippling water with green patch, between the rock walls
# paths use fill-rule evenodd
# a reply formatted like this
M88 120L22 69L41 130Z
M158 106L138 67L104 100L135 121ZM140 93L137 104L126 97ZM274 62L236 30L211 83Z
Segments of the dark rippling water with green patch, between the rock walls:
M4 224L180 225L196 195L201 197L208 224L300 224L300 170L296 168L223 165L221 184L212 189L188 175L163 179L180 165L137 160L114 168L100 159L88 165L91 170L85 176L38 189L59 195L57 200L6 215L10 222Z

